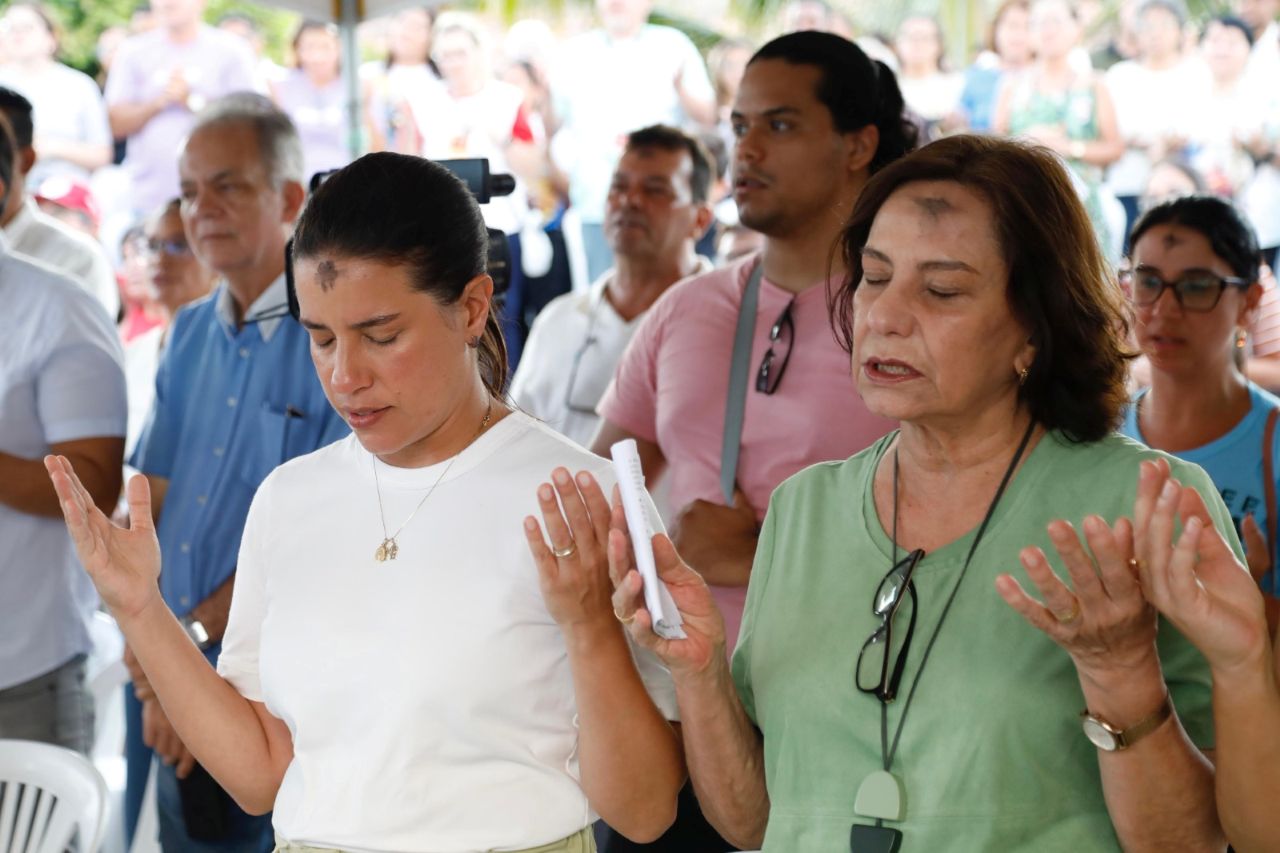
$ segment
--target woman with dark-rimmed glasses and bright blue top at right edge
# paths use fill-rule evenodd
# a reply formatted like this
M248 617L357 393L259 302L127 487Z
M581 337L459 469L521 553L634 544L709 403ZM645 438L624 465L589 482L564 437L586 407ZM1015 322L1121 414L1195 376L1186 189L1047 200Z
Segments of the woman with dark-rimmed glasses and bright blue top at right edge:
M1230 202L1185 196L1148 210L1129 245L1121 284L1151 387L1134 397L1123 432L1208 473L1262 578L1277 546L1280 398L1244 374L1245 329L1262 298L1258 241ZM1275 626L1275 573L1262 584Z

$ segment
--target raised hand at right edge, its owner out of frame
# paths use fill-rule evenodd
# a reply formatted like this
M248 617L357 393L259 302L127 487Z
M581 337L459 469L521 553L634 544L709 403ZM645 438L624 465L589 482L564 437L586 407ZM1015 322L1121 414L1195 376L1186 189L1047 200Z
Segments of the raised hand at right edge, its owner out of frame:
M1160 497L1135 514L1149 514L1155 532L1142 553L1142 588L1151 603L1180 630L1216 671L1252 667L1268 647L1262 594L1213 526L1199 493L1156 465ZM1172 544L1174 516L1183 533ZM1167 543L1167 544L1165 544Z

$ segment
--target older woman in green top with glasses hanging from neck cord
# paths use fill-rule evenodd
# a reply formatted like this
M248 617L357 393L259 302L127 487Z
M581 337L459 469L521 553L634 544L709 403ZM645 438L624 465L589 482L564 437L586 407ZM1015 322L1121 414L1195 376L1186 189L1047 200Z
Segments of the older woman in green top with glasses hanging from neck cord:
M1114 433L1125 315L1065 169L934 142L868 183L844 251L849 393L901 429L774 492L732 667L669 542L678 640L611 542L705 813L767 852L1221 849L1208 669L1132 570L1164 529L1121 520L1156 500L1140 464L1167 460L1238 543L1203 471Z

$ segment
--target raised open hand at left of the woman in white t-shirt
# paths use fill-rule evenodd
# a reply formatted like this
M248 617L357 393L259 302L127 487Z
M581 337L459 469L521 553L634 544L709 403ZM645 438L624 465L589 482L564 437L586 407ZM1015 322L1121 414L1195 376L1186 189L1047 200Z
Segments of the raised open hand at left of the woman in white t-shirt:
M81 564L116 621L137 616L159 598L160 542L151 520L151 488L136 474L125 487L129 526L111 524L76 476L65 456L46 456L45 469L54 482L67 529Z

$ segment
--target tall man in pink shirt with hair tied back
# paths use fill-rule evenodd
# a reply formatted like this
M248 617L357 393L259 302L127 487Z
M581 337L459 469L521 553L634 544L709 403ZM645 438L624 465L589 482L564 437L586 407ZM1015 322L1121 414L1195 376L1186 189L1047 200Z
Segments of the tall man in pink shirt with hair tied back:
M764 234L759 254L672 287L649 310L600 402L593 451L635 438L649 482L669 478L672 537L712 585L737 637L769 494L814 462L845 459L893 428L867 411L827 315L832 255L872 172L909 151L892 72L852 42L782 36L751 58L732 111L733 197ZM735 489L722 485L739 307L762 265L749 329ZM732 648L726 649L732 652Z

